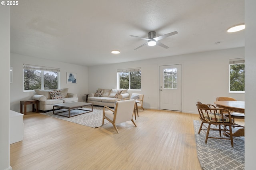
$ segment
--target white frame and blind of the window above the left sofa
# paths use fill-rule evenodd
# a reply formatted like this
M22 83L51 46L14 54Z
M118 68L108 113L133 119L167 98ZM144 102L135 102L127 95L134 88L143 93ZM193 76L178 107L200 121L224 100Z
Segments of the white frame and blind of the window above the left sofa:
M41 71L41 90L44 90L44 71L57 72L58 89L60 89L60 69L51 68L51 67L43 67L43 66L38 66L38 65L23 64L23 92L34 92L34 90L24 90L24 69ZM53 89L49 89L49 90L53 90Z

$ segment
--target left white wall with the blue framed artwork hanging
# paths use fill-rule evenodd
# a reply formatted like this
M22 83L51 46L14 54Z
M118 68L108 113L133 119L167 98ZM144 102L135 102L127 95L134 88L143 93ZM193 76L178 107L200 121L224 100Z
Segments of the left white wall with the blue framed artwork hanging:
M23 92L23 64L60 68L61 89L68 87L68 92L76 93L79 101L83 101L84 94L88 93L88 67L29 57L16 53L11 53L10 59L13 69L13 81L10 85L10 109L13 111L20 112L20 100L32 99L32 96L35 94L35 92ZM67 83L67 72L77 73L77 83ZM28 105L27 111L32 111L31 105Z

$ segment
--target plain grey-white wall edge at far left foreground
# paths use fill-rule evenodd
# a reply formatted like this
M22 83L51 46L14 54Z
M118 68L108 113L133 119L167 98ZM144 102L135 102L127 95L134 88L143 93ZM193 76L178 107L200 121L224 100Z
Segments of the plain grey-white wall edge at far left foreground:
M10 111L10 7L0 6L0 170L11 170L9 144Z

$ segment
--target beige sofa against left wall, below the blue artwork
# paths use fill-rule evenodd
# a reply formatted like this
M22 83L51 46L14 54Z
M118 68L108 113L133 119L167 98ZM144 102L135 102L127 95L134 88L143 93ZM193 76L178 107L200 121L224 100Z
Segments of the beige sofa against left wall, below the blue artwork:
M50 91L58 90L35 90L36 95L32 98L34 100L39 100L39 110L46 112L48 110L52 110L53 105L78 101L76 94L68 93L68 88L60 89L60 95L58 95L58 97L53 97L54 99L50 96Z

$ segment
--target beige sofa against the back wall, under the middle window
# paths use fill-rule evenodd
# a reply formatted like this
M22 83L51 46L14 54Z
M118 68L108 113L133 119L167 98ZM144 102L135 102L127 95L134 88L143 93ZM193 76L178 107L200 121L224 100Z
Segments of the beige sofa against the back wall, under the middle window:
M92 105L114 107L115 101L128 97L127 89L98 89L96 93L90 93L87 102Z

